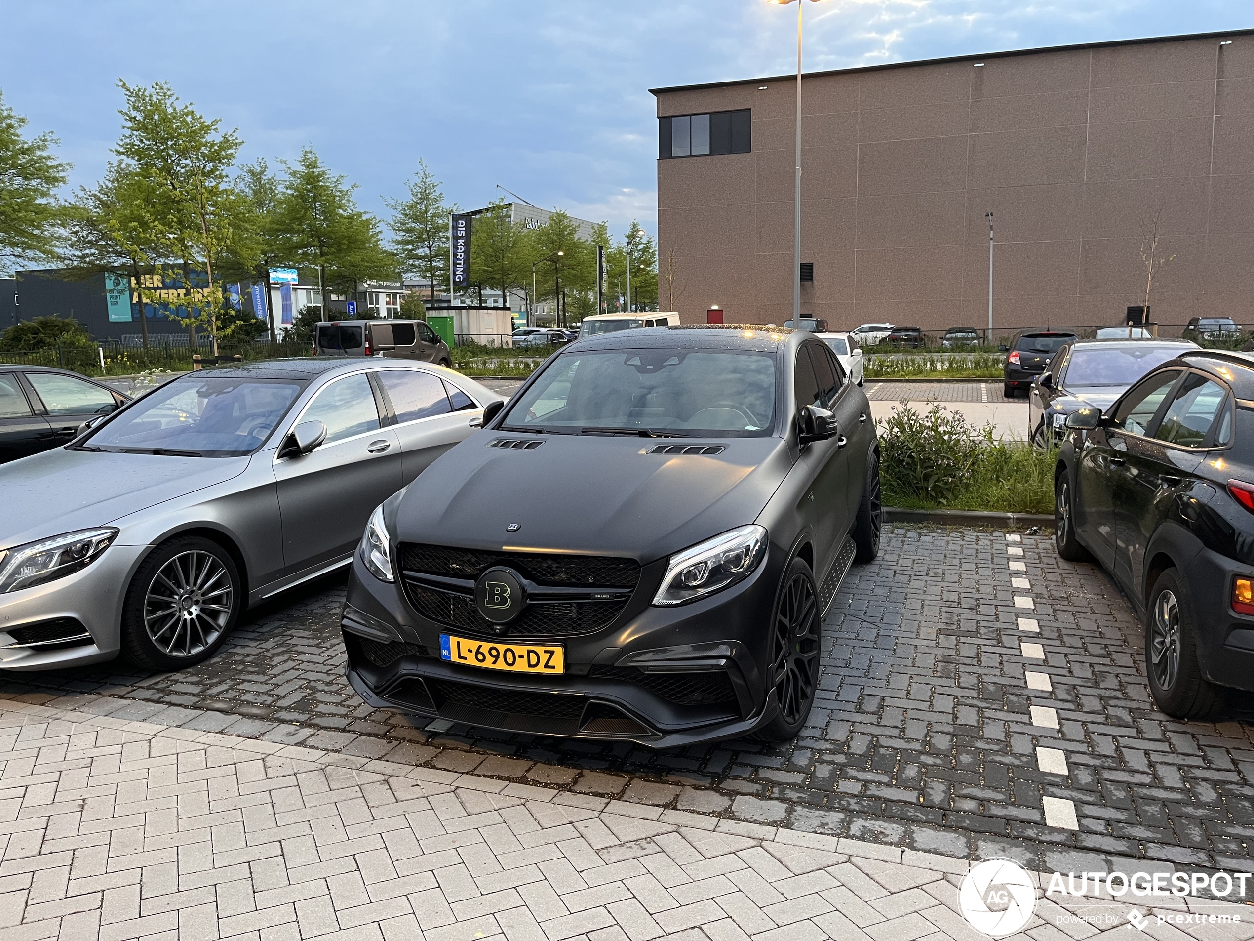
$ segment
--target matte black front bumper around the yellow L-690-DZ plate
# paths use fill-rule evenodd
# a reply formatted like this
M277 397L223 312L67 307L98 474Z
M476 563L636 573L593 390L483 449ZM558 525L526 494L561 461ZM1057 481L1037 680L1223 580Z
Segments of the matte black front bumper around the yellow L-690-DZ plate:
M777 709L764 666L785 556L771 546L744 582L677 607L647 605L661 571L646 566L627 609L607 629L542 639L488 637L426 620L399 583L379 581L355 555L341 619L349 681L379 709L505 731L651 748L741 736ZM451 664L440 659L440 634L561 644L566 673Z

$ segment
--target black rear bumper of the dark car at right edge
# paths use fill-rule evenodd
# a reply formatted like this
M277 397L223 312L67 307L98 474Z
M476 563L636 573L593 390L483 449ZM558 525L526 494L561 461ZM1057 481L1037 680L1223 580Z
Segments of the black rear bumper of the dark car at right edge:
M1184 567L1203 674L1221 686L1254 691L1254 617L1230 606L1239 575L1254 577L1254 567L1205 547Z

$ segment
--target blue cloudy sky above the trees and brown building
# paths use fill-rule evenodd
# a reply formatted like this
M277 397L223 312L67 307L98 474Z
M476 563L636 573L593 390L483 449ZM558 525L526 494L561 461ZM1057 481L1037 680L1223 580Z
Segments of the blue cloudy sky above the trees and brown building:
M95 181L117 80L169 82L243 158L312 144L385 215L423 157L463 207L509 187L653 228L647 89L795 69L796 8L764 0L0 0L0 89ZM1250 0L824 0L805 65L835 69L1254 25Z

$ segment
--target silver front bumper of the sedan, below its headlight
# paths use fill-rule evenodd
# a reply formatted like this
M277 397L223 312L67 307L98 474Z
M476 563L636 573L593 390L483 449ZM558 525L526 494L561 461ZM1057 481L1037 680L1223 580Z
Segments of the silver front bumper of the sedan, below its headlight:
M0 670L59 670L115 657L125 590L147 550L114 543L80 572L0 595ZM70 624L82 630L58 630ZM83 632L89 637L33 641L45 634L78 637Z

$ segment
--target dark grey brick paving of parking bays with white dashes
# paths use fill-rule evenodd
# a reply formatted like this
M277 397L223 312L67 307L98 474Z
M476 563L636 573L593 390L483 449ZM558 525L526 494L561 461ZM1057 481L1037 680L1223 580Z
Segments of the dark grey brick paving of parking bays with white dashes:
M330 582L288 596L179 674L6 676L0 698L963 859L1250 868L1250 725L1157 713L1129 606L1043 534L885 532L880 558L853 570L828 615L810 723L780 747L655 753L372 711L342 676L341 600ZM1036 631L1021 630L1025 615Z

